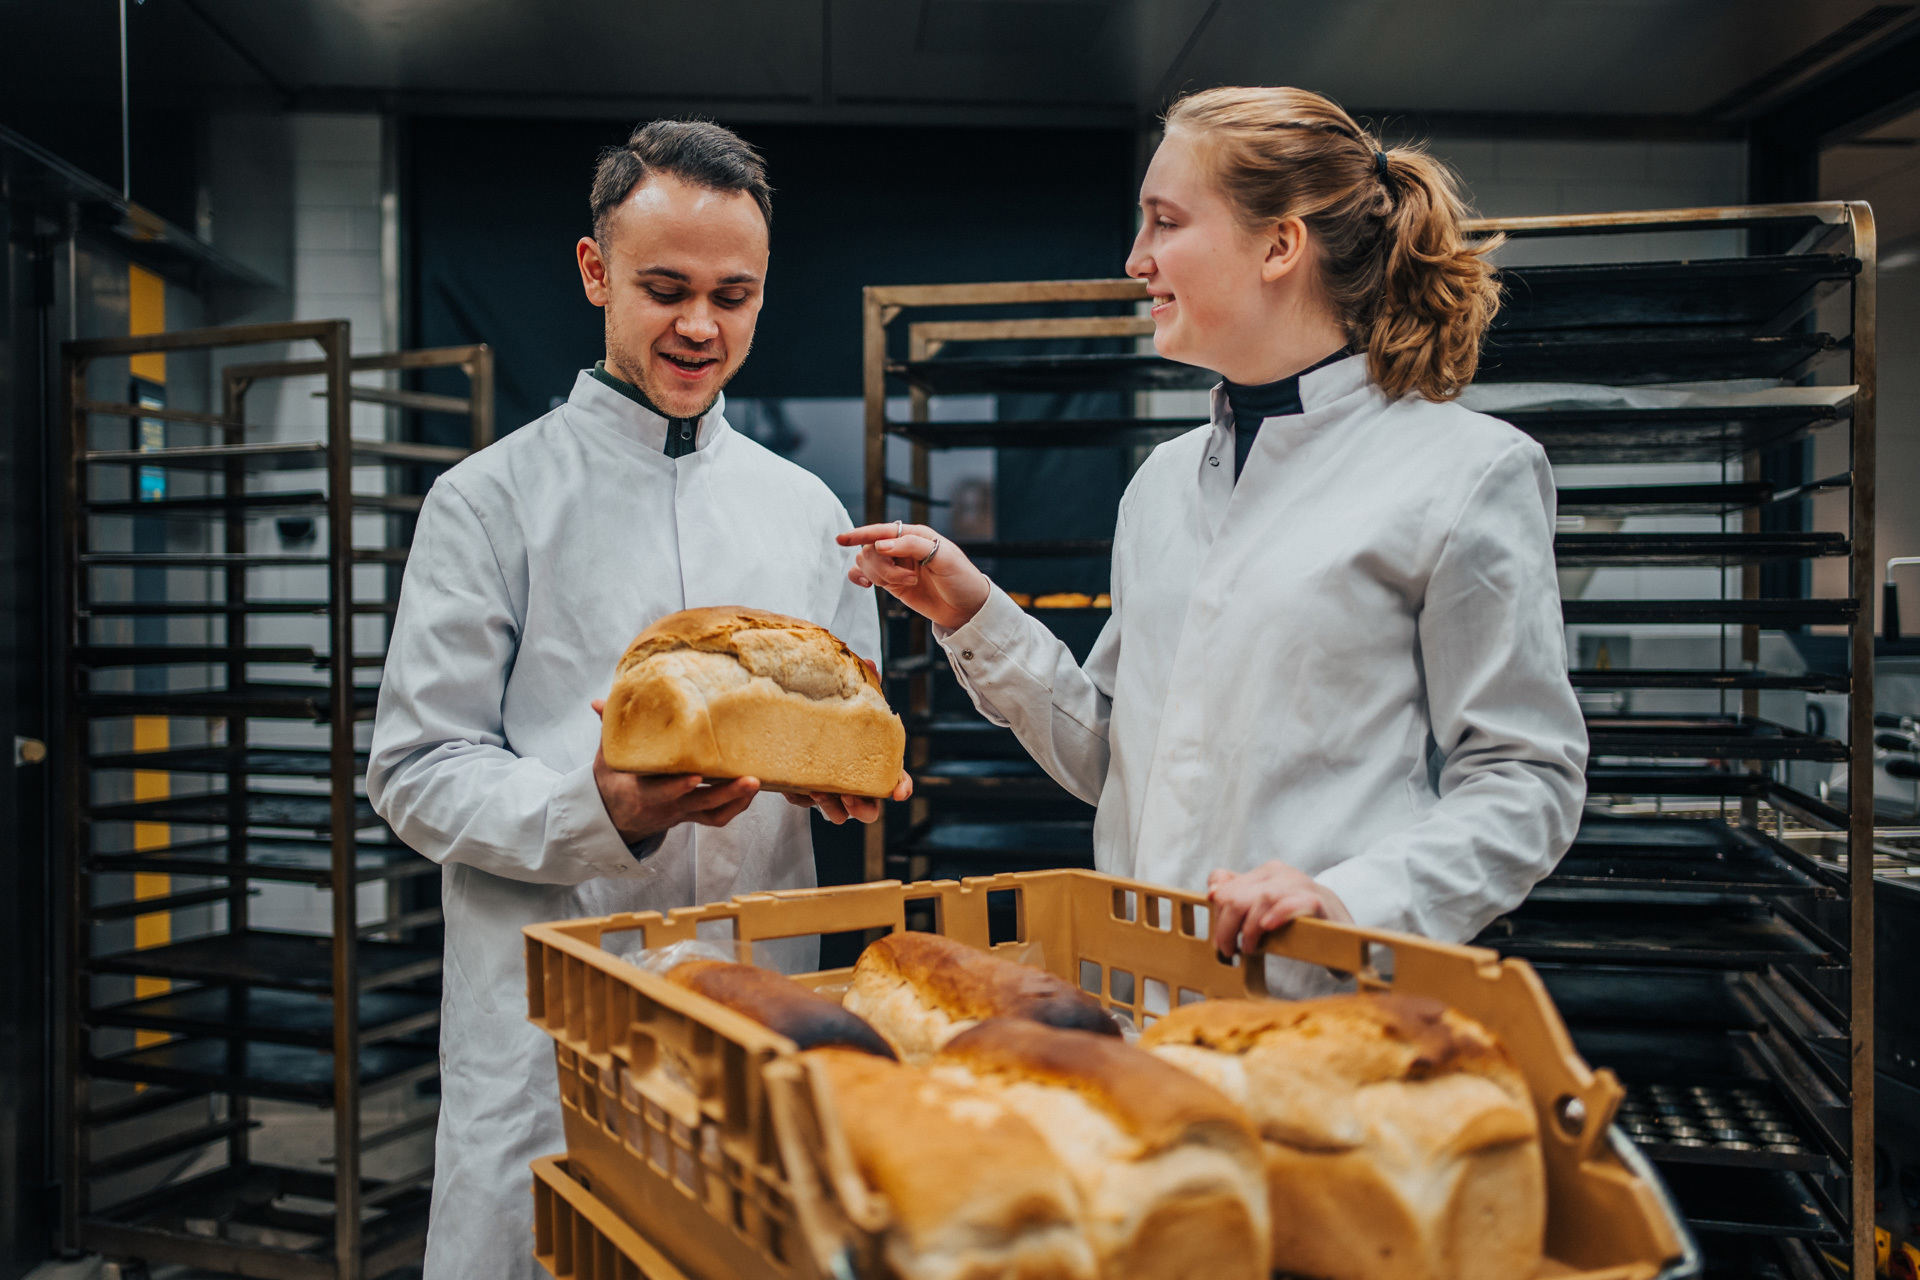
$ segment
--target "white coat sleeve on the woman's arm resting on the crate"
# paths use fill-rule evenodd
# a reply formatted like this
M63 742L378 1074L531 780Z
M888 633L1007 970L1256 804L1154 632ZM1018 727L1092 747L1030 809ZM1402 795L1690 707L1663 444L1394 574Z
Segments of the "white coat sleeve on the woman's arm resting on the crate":
M1507 449L1475 484L1427 581L1419 643L1438 800L1319 883L1361 925L1463 942L1559 864L1586 800L1538 445Z

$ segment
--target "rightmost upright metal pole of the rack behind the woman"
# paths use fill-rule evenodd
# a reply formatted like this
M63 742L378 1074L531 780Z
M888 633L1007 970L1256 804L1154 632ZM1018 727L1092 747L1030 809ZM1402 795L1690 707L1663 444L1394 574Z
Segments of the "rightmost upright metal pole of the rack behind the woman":
M1878 248L1874 211L1847 205L1853 217L1853 677L1847 691L1847 892L1849 984L1847 1032L1853 1084L1853 1274L1872 1276L1874 1249L1874 305Z

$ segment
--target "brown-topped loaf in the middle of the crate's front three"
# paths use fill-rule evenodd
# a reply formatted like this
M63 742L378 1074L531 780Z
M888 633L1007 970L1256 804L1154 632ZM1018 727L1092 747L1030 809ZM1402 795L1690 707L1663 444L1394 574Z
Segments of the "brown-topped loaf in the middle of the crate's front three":
M933 1075L1039 1130L1073 1178L1102 1276L1265 1276L1260 1140L1219 1090L1123 1040L1010 1017L954 1036Z

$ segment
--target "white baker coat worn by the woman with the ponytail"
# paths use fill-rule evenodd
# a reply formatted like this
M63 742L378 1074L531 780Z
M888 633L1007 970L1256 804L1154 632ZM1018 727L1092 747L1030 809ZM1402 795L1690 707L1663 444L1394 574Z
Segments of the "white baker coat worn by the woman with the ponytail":
M1098 804L1102 871L1206 892L1281 860L1361 925L1459 942L1553 869L1586 796L1553 478L1505 422L1388 401L1365 357L1300 399L1238 486L1219 388L1210 426L1154 449L1085 668L998 587L935 633L973 704Z

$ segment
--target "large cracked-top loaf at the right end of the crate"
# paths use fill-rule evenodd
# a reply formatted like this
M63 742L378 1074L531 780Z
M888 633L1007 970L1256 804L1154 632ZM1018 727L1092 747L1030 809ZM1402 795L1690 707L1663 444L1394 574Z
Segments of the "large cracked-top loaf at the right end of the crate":
M1140 1036L1260 1130L1273 1268L1530 1280L1546 1234L1534 1105L1478 1023L1415 996L1208 1000Z

